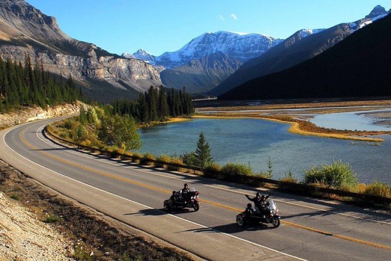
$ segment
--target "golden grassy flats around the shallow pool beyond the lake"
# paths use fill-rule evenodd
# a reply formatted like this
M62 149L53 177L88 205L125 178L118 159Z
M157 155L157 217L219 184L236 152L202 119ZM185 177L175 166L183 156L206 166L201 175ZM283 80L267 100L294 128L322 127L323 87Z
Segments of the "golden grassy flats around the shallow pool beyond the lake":
M216 106L216 104L215 104ZM312 124L309 119L314 114L329 114L338 112L351 112L368 110L391 109L391 100L369 101L322 101L273 104L264 102L260 105L231 106L231 107L203 107L197 108L196 117L221 117L221 118L259 118L288 123L291 133L312 135L318 137L330 137L336 139L348 139L368 142L382 142L381 137L373 137L382 134L391 134L391 131L347 131L327 129ZM363 112L364 113L364 112ZM369 116L377 118L377 124L391 123L391 112L371 112Z

